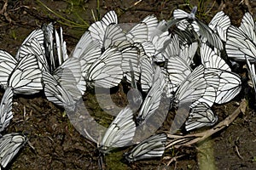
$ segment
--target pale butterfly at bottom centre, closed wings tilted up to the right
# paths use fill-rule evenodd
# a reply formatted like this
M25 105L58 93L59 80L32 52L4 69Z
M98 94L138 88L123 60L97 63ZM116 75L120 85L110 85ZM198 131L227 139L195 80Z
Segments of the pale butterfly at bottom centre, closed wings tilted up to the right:
M100 142L100 150L103 153L108 153L113 148L126 146L131 143L135 130L136 125L133 121L133 112L129 106L126 106L109 125Z

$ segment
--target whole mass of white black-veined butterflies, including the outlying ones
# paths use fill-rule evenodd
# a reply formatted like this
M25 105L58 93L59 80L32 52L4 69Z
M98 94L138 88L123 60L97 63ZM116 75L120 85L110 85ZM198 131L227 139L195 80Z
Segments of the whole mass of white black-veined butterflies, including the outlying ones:
M216 14L209 25L181 9L173 19L158 21L148 15L127 28L109 11L93 23L67 54L62 30L52 24L32 31L22 42L15 57L0 51L0 85L4 88L0 105L0 132L8 127L14 94L36 94L44 90L49 101L68 111L88 87L113 88L124 80L131 83L130 104L114 118L100 141L103 154L132 144L137 126L148 122L159 108L161 99L171 99L171 106L189 105L181 125L186 131L212 126L218 121L213 104L224 104L241 91L241 78L232 72L221 55L245 61L255 88L255 23L246 13L241 26L230 26L224 12ZM172 31L170 31L172 27ZM143 99L140 92L146 94ZM256 92L256 90L255 90ZM137 117L134 118L134 107ZM175 133L175 132L172 132ZM0 163L6 167L26 143L21 133L0 138ZM166 133L157 133L125 153L129 162L162 156Z

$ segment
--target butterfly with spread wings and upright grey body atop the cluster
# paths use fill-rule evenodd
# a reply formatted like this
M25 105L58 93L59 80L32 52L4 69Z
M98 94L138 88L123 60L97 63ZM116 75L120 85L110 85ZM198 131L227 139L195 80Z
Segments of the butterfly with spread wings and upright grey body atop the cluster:
M192 9L192 12L190 14L186 13L185 11L181 9L175 9L173 12L174 20L180 21L180 20L190 20L195 21L196 25L199 26L199 31L201 34L201 37L206 38L207 41L214 47L218 49L223 49L223 42L221 41L220 37L218 37L217 34L212 31L212 29L205 25L201 20L198 20L195 17L196 7ZM176 22L177 22L176 21ZM171 20L172 23L172 20ZM175 22L174 22L175 23Z

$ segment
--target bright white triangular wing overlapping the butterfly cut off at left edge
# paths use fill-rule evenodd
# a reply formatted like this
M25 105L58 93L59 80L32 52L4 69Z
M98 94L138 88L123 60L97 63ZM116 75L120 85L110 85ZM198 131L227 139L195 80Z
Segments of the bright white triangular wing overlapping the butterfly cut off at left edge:
M35 94L43 89L42 71L38 66L38 58L33 54L24 56L15 66L8 79L8 87L15 94Z

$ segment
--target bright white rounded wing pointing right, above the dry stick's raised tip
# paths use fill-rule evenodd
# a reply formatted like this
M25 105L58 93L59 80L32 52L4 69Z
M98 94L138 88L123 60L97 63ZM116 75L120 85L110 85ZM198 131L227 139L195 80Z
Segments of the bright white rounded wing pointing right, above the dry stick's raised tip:
M241 78L234 72L206 68L204 77L208 86L216 91L215 103L223 104L234 99L241 91Z

